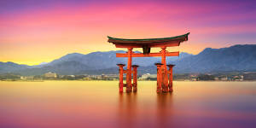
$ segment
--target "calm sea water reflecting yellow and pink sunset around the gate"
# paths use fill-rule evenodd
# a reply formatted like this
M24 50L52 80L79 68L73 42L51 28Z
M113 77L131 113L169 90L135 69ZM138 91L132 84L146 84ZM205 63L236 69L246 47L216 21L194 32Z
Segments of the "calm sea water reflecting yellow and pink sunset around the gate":
M256 127L256 82L0 82L0 128Z

